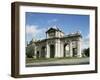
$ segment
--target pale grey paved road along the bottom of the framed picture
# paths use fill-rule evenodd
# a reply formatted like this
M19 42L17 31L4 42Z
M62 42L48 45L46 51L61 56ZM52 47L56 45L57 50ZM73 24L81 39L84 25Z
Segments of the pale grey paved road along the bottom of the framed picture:
M55 61L27 63L26 67L52 66L52 65L79 65L79 64L89 64L89 58L59 59Z

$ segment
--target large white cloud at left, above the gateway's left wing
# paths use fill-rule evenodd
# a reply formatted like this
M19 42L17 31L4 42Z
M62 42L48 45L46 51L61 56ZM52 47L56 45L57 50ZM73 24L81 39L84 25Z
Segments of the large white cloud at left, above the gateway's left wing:
M32 38L35 38L35 39L44 38L45 31L46 31L45 28L40 28L37 25L26 25L27 38L29 38L28 35L31 36L31 39Z

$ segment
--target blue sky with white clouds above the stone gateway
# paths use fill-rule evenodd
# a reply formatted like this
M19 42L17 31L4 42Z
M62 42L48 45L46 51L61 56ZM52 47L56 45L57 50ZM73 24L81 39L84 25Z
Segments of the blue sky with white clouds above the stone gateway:
M80 31L83 39L89 43L89 15L51 14L26 12L26 41L45 38L48 28L57 26L65 34Z

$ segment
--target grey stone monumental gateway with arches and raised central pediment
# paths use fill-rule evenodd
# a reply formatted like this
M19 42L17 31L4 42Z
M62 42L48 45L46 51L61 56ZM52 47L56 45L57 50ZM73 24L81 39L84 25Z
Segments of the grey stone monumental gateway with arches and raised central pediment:
M34 58L82 57L82 35L79 32L65 35L59 28L46 31L46 39L32 41Z

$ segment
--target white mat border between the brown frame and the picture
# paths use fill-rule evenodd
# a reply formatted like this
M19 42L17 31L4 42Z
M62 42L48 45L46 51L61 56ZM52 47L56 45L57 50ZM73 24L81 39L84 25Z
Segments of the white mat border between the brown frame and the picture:
M20 45L19 45L19 74L40 74L55 72L73 72L95 70L95 10L20 6L19 11ZM89 65L63 65L63 66L44 66L44 67L25 67L25 12L43 12L58 14L82 14L90 15L90 64Z

